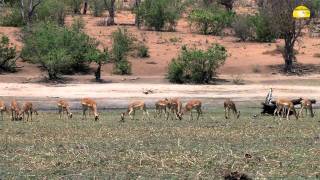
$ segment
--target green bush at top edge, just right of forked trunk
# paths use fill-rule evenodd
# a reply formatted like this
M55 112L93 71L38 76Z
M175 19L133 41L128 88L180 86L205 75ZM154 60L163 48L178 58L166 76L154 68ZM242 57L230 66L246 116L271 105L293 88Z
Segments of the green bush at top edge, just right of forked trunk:
M54 21L63 25L66 16L65 4L61 0L46 0L39 5L36 16L37 20Z

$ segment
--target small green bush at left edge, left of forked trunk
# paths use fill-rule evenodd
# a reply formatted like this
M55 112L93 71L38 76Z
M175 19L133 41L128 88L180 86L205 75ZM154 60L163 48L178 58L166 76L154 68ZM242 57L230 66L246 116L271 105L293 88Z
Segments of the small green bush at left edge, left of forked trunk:
M1 26L21 27L25 25L18 8L10 8L8 13L0 16Z

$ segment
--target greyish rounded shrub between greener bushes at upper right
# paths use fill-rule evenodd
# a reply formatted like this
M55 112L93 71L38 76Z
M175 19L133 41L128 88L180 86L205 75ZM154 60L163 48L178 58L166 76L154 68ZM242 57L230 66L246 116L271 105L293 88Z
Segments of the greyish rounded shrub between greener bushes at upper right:
M253 37L253 24L249 16L238 16L232 23L235 36L240 38L241 41L252 40Z

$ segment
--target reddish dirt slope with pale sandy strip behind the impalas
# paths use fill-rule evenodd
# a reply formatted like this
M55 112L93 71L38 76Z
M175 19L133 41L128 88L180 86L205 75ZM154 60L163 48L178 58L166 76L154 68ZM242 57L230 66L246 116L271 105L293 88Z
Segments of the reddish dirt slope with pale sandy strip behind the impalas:
M100 41L100 47L111 46L111 33L118 27L98 26L102 17L82 16L85 21L85 32ZM66 24L71 24L74 17L68 16ZM116 22L133 24L134 16L130 12L121 12L116 16ZM3 99L55 98L79 99L84 96L114 99L106 103L112 107L113 102L128 99L147 99L150 103L162 97L203 98L205 100L222 100L226 97L236 101L260 101L266 95L268 88L275 89L275 96L320 98L320 58L314 55L319 52L320 39L309 38L306 34L297 43L299 51L297 61L303 71L300 76L285 76L279 73L279 65L283 64L282 56L276 51L275 43L238 42L232 36L205 36L191 32L185 18L177 25L176 32L154 32L138 30L134 26L126 27L137 40L144 42L150 51L150 57L141 59L135 55L129 56L132 63L131 76L112 75L112 64L103 67L102 78L105 83L93 81L93 73L65 76L63 84L48 84L43 81L44 72L36 64L18 62L17 73L0 75L0 96ZM22 48L20 30L12 27L0 27L0 33L9 36L18 50ZM219 69L215 85L173 85L165 79L168 63L177 57L182 45L207 48L211 43L220 43L228 50L229 57ZM92 68L95 68L92 65ZM241 84L241 85L237 85ZM154 94L145 95L144 89L153 89ZM116 100L118 99L118 100ZM47 101L47 100L46 100ZM119 103L118 103L119 104Z

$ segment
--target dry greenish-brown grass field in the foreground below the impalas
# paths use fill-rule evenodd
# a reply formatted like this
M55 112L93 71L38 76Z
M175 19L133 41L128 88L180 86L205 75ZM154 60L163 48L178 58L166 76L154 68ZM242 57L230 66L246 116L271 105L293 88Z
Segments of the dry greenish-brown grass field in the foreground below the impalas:
M120 111L98 122L41 112L33 122L0 121L0 179L220 179L231 171L254 179L319 177L317 117L279 121L240 110L239 120L205 109L199 121L120 123Z

